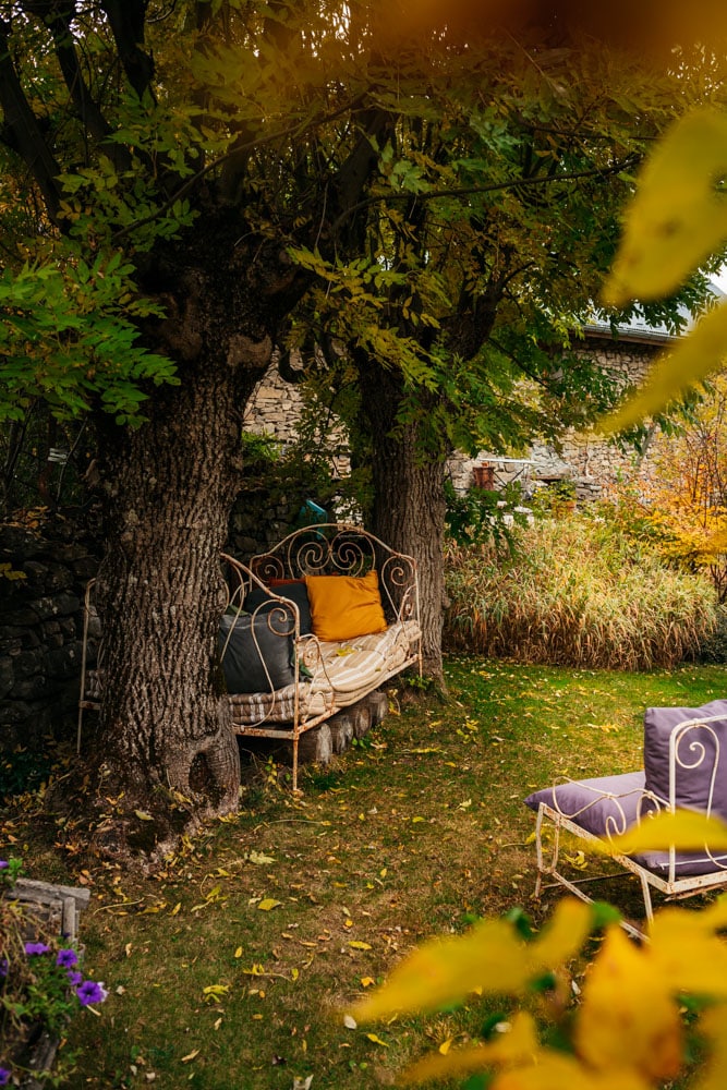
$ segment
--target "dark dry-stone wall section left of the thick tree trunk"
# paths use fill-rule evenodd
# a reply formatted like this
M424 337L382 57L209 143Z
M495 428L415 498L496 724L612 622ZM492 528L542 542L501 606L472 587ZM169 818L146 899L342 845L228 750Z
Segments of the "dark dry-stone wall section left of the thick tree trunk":
M70 524L47 536L0 526L0 750L72 731L83 593L97 566Z

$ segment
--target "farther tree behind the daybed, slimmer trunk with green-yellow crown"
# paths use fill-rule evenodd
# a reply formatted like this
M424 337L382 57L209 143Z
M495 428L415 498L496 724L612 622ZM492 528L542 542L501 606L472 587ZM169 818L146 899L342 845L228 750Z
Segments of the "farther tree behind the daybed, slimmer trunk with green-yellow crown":
M521 27L460 63L426 108L400 97L366 249L355 263L308 254L325 284L301 307L330 385L355 374L372 528L419 560L437 678L445 461L455 446L513 452L557 437L616 398L579 335L644 149L705 95L703 72L646 81L639 61L557 26ZM652 311L676 313L674 300Z

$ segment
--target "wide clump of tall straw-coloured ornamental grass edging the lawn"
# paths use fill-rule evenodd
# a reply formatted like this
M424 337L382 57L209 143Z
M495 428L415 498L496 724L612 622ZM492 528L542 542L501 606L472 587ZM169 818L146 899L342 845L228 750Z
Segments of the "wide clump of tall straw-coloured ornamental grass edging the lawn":
M512 557L449 543L455 650L606 669L696 658L717 627L708 579L669 569L645 543L589 512L517 529Z

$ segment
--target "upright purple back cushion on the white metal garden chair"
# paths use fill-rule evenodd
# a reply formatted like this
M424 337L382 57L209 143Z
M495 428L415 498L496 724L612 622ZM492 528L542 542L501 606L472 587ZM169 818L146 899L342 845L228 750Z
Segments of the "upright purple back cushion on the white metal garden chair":
M647 707L644 714L644 772L646 790L669 801L669 736L684 719L722 715L720 722L680 735L675 775L677 807L705 811L715 762L712 812L727 820L727 700L703 707Z

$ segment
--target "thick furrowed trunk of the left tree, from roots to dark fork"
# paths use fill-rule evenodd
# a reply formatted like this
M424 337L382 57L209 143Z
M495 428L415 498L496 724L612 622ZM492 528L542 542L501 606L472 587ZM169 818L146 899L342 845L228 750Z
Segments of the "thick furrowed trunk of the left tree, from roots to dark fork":
M123 800L119 850L160 855L190 818L238 804L238 742L217 657L219 554L241 484L243 411L269 363L278 315L262 301L259 269L230 275L223 246L234 237L208 235L204 253L184 253L186 267L165 270L174 289L169 318L147 339L177 359L180 385L155 391L141 427L99 427L105 681L92 763L104 795ZM275 282L272 265L268 300L290 286L284 276ZM134 829L140 810L154 821Z

